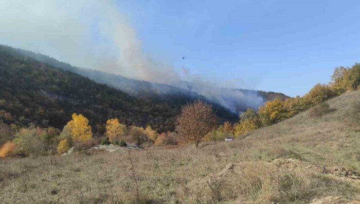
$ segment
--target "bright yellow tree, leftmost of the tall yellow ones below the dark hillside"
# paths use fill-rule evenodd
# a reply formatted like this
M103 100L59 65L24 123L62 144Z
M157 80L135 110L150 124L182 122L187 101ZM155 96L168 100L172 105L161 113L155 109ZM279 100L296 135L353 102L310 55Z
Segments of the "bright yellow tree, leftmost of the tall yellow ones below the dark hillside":
M83 115L72 114L72 120L68 122L72 140L77 142L86 142L92 138L91 126L89 120Z

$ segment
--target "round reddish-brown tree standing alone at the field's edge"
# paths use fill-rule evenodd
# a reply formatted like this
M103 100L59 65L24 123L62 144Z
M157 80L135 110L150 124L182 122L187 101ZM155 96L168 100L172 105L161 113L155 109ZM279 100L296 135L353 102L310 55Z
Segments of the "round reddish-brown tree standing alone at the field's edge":
M177 118L176 131L180 135L180 142L194 142L198 148L200 140L216 125L216 115L211 105L197 101L182 106L181 114Z

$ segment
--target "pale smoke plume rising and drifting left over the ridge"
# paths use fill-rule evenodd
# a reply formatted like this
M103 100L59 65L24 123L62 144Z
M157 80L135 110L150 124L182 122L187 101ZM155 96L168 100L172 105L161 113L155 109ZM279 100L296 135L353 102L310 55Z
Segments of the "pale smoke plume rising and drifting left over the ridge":
M0 0L0 43L50 55L77 67L190 89L232 111L257 108L254 93L219 88L144 54L115 0ZM170 49L170 48L169 48Z

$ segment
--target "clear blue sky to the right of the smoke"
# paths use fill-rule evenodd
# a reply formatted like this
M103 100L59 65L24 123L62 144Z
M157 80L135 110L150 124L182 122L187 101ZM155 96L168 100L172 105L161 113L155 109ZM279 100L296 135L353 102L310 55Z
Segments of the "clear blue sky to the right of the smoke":
M303 95L360 62L357 0L117 3L146 53L223 86Z

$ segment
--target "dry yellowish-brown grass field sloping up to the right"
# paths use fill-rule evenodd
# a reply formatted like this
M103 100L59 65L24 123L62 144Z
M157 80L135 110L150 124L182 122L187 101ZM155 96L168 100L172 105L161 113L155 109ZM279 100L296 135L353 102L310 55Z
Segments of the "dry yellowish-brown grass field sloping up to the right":
M360 91L233 142L0 160L0 203L360 203Z

